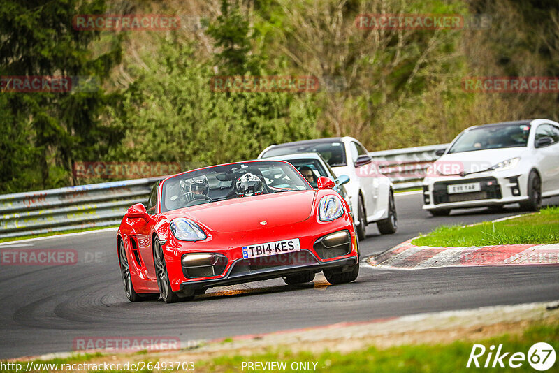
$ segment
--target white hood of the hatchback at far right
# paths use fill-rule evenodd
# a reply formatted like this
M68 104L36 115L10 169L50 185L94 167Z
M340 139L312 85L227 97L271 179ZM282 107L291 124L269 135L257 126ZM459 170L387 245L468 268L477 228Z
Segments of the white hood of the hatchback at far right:
M433 169L428 176L460 175L463 172L477 173L487 170L499 162L522 156L525 150L525 147L509 147L444 154L433 163Z

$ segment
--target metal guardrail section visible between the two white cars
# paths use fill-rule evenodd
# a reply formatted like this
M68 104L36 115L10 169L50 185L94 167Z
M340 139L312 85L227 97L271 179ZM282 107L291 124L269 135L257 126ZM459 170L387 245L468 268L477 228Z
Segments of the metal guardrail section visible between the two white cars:
M435 152L446 149L450 144L409 147L405 149L370 152L380 173L390 177L394 189L410 189L421 186L427 168L439 157Z

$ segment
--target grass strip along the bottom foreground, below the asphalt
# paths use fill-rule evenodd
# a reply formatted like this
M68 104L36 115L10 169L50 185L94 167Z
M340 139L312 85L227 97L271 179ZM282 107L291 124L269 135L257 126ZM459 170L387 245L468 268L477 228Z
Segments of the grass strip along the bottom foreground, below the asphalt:
M502 353L509 352L507 358L503 360L504 369L497 368L498 372L535 372L530 367L528 361L523 361L523 365L513 369L508 367L508 358L512 353L521 352L528 354L528 350L532 344L537 342L546 342L551 344L556 351L559 351L559 323L533 323L530 327L519 335L502 335L491 339L484 339L476 342L457 341L451 344L437 345L405 345L391 347L389 349L377 349L370 347L368 349L360 349L351 351L350 353L339 353L324 351L321 353L299 352L291 353L289 350L268 351L267 353L258 353L251 356L219 356L211 360L201 360L194 363L194 372L242 372L242 363L259 362L266 364L267 362L285 363L285 372L296 371L291 369L291 365L295 367L295 363L310 363L310 367L314 367L316 363L317 372L472 372L472 370L486 371L483 368L466 368L467 360L472 351L473 344L483 344L486 346L486 353L479 358L481 365L485 363L489 346L498 346L502 344ZM340 344L343 340L340 340ZM87 360L99 361L101 355L76 356L66 359L52 359L48 361L38 361L38 363L73 363L85 362ZM170 361L168 358L165 361ZM110 359L109 359L110 361ZM146 358L147 362L157 363L157 359ZM162 360L163 361L163 360ZM5 363L5 362L3 362ZM493 363L493 360L491 361ZM549 372L557 372L556 364ZM155 372L156 370L152 370ZM248 371L245 366L245 372ZM268 371L268 370L265 370ZM300 370L299 370L300 371ZM13 370L0 370L0 372L13 372ZM131 372L129 370L121 370L119 372ZM143 371L145 372L145 371ZM151 372L151 371L147 371Z

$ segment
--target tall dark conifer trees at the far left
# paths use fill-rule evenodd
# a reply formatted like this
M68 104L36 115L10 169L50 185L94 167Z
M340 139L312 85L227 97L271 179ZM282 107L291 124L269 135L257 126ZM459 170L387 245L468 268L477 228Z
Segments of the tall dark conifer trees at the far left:
M72 28L73 15L104 11L104 0L0 4L0 75L94 80L93 92L1 93L0 192L72 184L73 161L99 159L119 141L119 131L100 118L116 99L101 85L120 60L119 39L94 56L99 32Z

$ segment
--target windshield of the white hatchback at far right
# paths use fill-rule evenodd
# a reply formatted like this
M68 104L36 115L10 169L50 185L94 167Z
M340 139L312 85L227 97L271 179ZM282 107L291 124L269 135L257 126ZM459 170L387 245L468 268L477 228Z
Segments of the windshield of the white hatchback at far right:
M463 132L449 149L449 153L525 147L528 145L528 135L530 135L530 124L481 126Z

